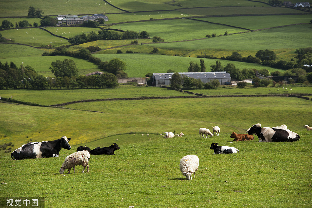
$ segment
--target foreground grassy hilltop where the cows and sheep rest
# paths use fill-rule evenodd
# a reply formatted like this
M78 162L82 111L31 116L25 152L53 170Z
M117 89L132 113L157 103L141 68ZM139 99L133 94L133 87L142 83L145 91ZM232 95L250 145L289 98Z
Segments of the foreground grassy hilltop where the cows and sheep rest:
M240 152L213 155L212 142L235 146ZM2 181L7 183L2 194L43 196L46 207L305 208L312 205L310 142L311 134L295 144L255 140L232 144L227 134L220 134L217 141L153 135L151 141L119 145L115 155L91 155L90 173L61 175L59 168L74 146L61 150L59 158L23 161L13 161L1 151ZM192 181L179 170L180 159L188 154L199 157Z

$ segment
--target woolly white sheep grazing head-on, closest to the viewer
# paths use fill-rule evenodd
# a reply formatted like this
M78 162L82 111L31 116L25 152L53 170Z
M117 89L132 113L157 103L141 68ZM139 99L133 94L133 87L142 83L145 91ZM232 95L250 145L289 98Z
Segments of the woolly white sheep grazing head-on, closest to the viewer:
M196 155L186 155L180 160L180 170L187 180L193 180L192 174L198 170L199 159Z

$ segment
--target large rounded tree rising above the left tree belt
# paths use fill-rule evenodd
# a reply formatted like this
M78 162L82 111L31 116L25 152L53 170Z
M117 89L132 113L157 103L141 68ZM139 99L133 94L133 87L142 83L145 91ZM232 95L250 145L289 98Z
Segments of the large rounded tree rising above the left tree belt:
M55 77L71 77L79 74L76 63L73 59L64 59L64 61L56 60L52 61L51 72L54 73Z

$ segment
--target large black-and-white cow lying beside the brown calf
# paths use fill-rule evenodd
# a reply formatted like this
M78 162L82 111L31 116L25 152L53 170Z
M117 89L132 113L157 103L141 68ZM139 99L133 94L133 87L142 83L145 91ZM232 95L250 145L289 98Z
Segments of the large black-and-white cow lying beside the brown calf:
M294 142L300 139L299 134L289 129L262 128L261 124L253 125L247 133L256 134L259 138L259 142Z

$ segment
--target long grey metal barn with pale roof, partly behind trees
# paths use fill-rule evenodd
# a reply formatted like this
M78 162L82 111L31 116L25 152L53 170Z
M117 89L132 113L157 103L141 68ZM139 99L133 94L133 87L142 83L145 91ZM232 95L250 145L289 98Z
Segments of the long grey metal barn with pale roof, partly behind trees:
M156 87L160 87L161 85L170 85L170 79L172 77L172 74L174 73L154 73L153 85ZM204 84L210 82L213 79L217 79L222 85L231 85L230 73L226 72L183 72L179 74L184 74L187 77L200 79Z

